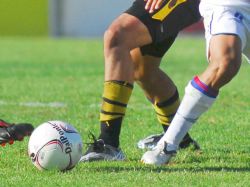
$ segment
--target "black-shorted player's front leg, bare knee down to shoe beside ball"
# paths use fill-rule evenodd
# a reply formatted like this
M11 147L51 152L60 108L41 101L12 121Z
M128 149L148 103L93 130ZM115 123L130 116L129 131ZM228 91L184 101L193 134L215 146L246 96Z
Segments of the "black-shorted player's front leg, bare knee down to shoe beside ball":
M133 90L134 65L130 51L152 42L146 26L123 13L104 35L105 82L100 112L100 135L82 161L123 160L119 149L121 124Z

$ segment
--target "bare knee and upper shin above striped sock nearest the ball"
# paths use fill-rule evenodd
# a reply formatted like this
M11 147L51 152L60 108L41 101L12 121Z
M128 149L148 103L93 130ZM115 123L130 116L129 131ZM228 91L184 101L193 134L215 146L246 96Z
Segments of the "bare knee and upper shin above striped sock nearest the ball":
M146 26L129 14L120 15L104 35L105 80L133 82L130 51L152 42Z

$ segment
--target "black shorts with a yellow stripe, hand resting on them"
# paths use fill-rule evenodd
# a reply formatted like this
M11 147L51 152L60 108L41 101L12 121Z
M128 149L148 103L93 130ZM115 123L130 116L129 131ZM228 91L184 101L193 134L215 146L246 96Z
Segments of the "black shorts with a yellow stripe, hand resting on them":
M200 20L200 0L165 0L161 8L150 14L146 1L135 0L125 11L137 17L148 28L152 43L141 47L143 55L162 57L171 47L178 33Z

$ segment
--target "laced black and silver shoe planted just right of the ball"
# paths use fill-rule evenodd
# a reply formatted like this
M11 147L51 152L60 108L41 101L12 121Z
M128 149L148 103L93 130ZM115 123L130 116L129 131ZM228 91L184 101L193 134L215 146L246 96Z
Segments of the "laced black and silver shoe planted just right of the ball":
M80 162L122 161L125 159L121 149L105 144L102 139L97 140L94 135L92 138L94 142L90 143Z

